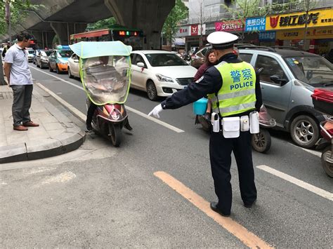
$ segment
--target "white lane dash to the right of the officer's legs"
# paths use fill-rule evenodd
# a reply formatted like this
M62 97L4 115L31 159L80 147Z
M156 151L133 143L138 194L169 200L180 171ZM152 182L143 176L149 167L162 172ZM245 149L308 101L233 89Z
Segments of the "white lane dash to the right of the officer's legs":
M306 189L308 191L313 192L314 194L318 194L318 196L322 196L324 198L327 198L329 201L333 201L333 194L329 191L320 189L318 187L315 187L311 184L308 184L307 182L303 182L302 180L299 180L295 177L292 177L291 175L287 175L285 173L282 173L279 170L275 170L274 168L270 168L266 165L260 165L256 166L256 168L259 168L261 170L264 170L272 175L276 175L283 180L286 180L287 182L292 182L293 184L296 184L299 187L302 187L303 189Z

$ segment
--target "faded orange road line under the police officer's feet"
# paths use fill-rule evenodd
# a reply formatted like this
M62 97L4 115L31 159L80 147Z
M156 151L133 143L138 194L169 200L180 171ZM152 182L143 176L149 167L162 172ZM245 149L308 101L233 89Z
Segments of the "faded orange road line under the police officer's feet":
M273 248L230 217L223 217L211 210L208 201L204 200L204 198L196 194L192 191L192 189L186 187L182 182L179 182L171 175L163 171L155 172L154 175L171 187L171 189L178 192L178 194L181 194L181 196L190 201L190 203L194 206L202 210L202 212L211 217L221 227L230 232L230 234L237 237L240 241L242 241L242 243L244 243L244 245L247 245L249 248Z

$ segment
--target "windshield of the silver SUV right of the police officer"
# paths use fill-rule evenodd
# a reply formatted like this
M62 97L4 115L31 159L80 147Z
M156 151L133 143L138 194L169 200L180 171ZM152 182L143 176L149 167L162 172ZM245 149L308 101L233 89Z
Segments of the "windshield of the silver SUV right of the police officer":
M319 55L286 57L296 79L314 87L333 86L333 66Z

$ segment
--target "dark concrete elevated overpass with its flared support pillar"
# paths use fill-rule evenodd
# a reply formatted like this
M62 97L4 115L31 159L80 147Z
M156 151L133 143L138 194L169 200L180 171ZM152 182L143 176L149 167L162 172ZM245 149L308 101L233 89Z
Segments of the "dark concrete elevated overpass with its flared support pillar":
M84 32L86 25L114 16L119 25L143 30L144 48L159 48L164 21L175 0L31 0L41 5L28 11L27 18L12 30L12 36L23 30L34 35L38 46L51 47L58 34L60 43L69 43L70 34ZM0 40L8 40L0 35Z

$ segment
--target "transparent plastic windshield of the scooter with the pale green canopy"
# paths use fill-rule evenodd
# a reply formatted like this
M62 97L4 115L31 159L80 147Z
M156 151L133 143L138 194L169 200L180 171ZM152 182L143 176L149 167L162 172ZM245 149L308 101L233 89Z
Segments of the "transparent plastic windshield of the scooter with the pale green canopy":
M82 59L81 69L86 93L96 105L126 101L130 82L129 56Z

